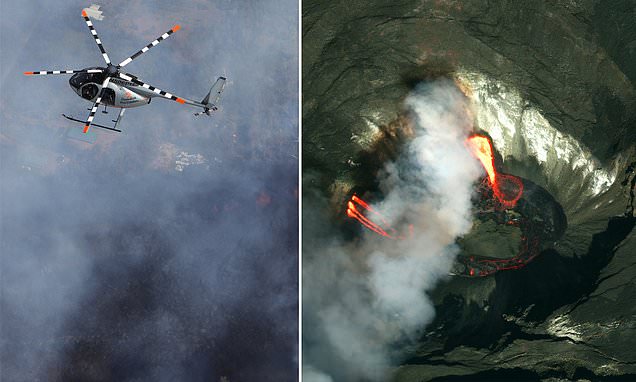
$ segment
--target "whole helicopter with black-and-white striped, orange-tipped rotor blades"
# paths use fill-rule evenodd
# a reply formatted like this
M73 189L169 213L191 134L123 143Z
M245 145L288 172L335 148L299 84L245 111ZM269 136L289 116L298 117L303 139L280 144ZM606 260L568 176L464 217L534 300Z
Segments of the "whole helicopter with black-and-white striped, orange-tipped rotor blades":
M89 9L89 11L91 11L91 9ZM91 13L91 15L92 14L93 13ZM88 115L86 121L69 117L66 114L62 114L62 116L71 121L83 123L84 134L88 133L91 126L121 132L121 130L117 128L117 125L121 121L124 115L124 111L128 108L147 105L155 97L165 98L176 101L180 104L188 104L203 109L202 111L195 113L195 116L199 116L201 114L206 114L209 116L212 112L218 110L217 105L221 98L221 93L225 89L225 82L227 80L225 77L218 77L216 82L210 88L208 94L201 100L201 102L197 102L187 98L177 97L172 93L163 91L155 86L143 82L137 76L122 71L122 68L131 63L134 59L146 53L151 48L157 46L161 41L167 39L173 33L181 29L179 25L175 25L168 32L162 34L160 37L143 47L141 50L137 51L132 56L126 58L118 65L113 65L110 57L108 56L108 53L106 52L106 49L104 49L104 46L102 45L102 41L97 35L95 26L91 22L86 9L82 10L82 17L84 18L84 21L86 22L91 35L95 39L97 47L102 53L102 57L106 62L105 67L96 66L80 70L40 70L24 72L24 74L28 76L72 74L73 76L71 76L71 78L69 79L69 85L71 86L73 91L77 93L78 96L87 101L93 102L93 107L89 109L90 114ZM97 112L97 108L100 105L104 105L104 110L102 111L102 113L104 114L108 113L106 111L106 106L120 109L117 119L112 120L112 122L115 123L114 126L109 127L93 123L95 113Z

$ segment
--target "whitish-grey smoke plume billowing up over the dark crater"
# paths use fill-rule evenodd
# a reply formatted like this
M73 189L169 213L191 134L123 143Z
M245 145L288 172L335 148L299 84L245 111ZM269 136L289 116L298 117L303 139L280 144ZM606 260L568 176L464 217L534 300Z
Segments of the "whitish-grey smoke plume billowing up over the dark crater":
M482 170L464 145L472 129L464 96L452 82L436 81L405 103L415 137L379 175L384 199L374 208L398 232L412 225L413 236L390 240L365 231L347 242L324 212L303 220L306 381L386 380L400 356L392 347L417 339L432 321L426 292L448 275L455 239L472 225ZM317 194L303 199L306 216L326 208Z

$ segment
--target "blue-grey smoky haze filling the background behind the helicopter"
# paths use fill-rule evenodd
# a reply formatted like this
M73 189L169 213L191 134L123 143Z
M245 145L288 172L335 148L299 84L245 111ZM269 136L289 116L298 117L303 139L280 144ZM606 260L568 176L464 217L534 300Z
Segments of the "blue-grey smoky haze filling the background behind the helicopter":
M89 4L0 2L0 380L296 380L297 2L102 4L115 62L182 27L127 72L229 81L211 118L155 99L93 145L68 76L22 75L103 65Z

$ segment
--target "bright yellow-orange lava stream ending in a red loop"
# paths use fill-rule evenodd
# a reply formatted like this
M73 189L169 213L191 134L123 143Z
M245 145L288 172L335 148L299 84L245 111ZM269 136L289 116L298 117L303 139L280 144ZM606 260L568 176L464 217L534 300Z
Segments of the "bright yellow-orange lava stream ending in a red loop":
M513 208L523 194L521 179L513 175L498 173L490 139L483 135L473 135L466 140L471 152L484 166L493 194L504 208Z

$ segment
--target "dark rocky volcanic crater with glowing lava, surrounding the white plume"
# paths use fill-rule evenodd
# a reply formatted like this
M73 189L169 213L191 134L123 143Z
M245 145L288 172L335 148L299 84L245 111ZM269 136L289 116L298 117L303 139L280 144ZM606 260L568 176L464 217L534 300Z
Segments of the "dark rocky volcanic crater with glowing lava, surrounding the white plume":
M345 249L401 248L426 226L377 207L418 136L405 100L419 86L457 90L466 151L485 145L496 172L473 155L472 225L422 294L430 320L386 341L385 380L636 380L636 4L317 4L303 5L304 264L342 256L312 252L313 211ZM319 326L308 301L304 327ZM320 369L328 346L304 332Z

